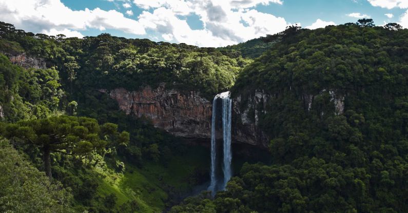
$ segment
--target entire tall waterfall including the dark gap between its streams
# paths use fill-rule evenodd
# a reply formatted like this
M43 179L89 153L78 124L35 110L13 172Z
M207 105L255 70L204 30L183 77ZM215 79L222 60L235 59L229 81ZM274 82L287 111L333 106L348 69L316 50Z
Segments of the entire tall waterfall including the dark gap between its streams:
M211 171L210 185L208 190L215 194L218 190L224 190L227 182L232 176L231 161L231 105L229 91L217 94L212 101L212 118L211 118ZM218 111L218 102L221 100L221 111ZM220 113L221 112L221 113ZM221 116L220 116L220 115ZM221 117L223 132L223 150L222 161L220 161L220 151L217 146L217 121ZM222 163L222 164L220 164ZM222 168L222 173L220 172Z

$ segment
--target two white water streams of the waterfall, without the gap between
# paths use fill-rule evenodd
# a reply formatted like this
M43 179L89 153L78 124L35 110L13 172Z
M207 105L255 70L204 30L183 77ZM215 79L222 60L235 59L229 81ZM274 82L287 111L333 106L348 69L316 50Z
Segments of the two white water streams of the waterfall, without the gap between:
M216 111L217 99L221 99L222 103L222 131L223 131L223 175L221 189L225 189L227 182L232 176L231 171L231 105L232 101L229 98L229 91L217 94L212 101L212 118L211 118L211 182L208 190L214 194L217 190L219 180L217 180L217 146L216 146Z

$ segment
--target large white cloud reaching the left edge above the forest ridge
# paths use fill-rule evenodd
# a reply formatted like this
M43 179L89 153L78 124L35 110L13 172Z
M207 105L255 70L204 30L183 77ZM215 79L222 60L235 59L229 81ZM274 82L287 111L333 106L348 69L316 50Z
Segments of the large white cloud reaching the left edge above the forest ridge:
M60 0L0 0L0 20L34 33L52 30L74 33L75 30L89 28L146 33L139 22L124 17L116 10L71 10Z

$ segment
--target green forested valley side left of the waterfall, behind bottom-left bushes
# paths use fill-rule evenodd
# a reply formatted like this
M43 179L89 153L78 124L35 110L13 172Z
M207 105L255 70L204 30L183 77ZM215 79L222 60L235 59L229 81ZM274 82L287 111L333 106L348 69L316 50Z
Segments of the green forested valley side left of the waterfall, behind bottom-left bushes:
M0 36L0 134L67 188L75 211L158 212L208 180L205 147L127 116L96 89L166 83L210 99L234 85L252 62L215 48L109 34L48 36L7 23L0 23ZM22 53L44 59L48 69L10 62L8 57Z

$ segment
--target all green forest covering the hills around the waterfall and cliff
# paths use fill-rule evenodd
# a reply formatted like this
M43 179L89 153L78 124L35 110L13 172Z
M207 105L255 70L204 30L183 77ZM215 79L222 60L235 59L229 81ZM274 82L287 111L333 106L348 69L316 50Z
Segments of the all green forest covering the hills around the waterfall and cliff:
M408 212L408 30L397 24L292 26L224 48L7 23L0 36L0 167L15 172L0 174L4 211ZM23 52L48 69L10 62ZM181 202L209 178L207 149L96 91L160 83L208 100L264 90L270 162L245 163L215 197Z

